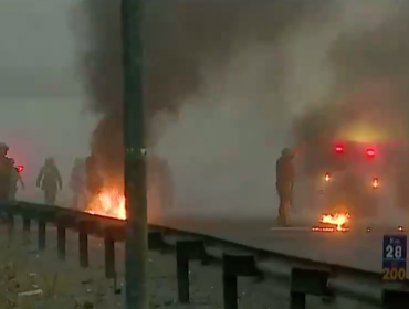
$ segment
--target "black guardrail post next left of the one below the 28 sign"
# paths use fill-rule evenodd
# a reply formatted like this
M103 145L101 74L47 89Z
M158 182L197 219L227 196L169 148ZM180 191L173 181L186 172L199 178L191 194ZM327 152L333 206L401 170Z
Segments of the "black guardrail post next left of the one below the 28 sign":
M331 296L329 271L293 268L291 271L290 309L305 309L306 295Z

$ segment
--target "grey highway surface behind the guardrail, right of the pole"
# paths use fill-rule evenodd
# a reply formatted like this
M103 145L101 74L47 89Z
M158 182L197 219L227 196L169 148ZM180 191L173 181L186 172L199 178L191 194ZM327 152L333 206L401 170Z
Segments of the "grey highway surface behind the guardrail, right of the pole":
M407 234L396 227L356 227L347 233L314 233L310 227L272 230L264 219L211 219L168 216L155 223L202 233L247 246L310 258L317 262L381 271L382 236Z

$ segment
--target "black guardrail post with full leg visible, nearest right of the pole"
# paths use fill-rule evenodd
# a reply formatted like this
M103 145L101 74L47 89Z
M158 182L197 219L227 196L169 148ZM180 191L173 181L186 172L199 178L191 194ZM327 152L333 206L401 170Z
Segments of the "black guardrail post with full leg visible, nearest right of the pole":
M202 241L176 242L176 267L178 278L178 298L181 303L188 303L189 295L189 262L204 259L204 244Z

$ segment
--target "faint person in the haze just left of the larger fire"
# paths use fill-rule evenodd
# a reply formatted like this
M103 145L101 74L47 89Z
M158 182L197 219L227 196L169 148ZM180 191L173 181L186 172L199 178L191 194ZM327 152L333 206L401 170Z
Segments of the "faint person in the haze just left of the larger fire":
M72 192L71 207L85 209L85 161L81 158L75 159L71 170L70 189Z

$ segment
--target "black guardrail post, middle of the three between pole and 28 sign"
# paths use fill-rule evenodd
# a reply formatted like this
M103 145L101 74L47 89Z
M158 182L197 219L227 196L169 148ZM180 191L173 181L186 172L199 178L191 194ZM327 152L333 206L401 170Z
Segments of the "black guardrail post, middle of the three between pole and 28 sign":
M255 257L249 254L223 254L224 309L238 309L238 277L259 277Z

